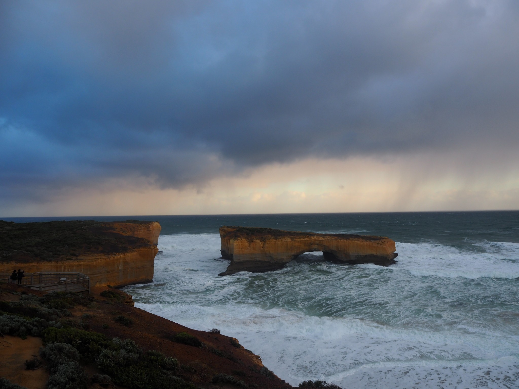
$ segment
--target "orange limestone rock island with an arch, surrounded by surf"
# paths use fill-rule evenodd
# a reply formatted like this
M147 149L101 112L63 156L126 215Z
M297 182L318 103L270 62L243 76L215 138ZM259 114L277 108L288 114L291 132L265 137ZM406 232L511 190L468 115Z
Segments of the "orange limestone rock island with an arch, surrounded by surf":
M230 259L220 275L239 271L262 272L282 268L298 255L322 251L333 262L374 263L389 266L397 261L394 241L385 237L319 234L271 228L221 227L222 258Z

